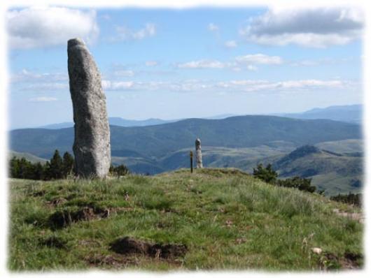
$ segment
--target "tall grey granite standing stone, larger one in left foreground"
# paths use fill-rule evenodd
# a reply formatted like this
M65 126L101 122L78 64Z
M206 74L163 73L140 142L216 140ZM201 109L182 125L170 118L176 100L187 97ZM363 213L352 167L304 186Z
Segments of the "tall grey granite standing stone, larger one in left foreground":
M85 178L106 177L111 165L111 143L101 76L81 39L69 40L67 52L76 173Z

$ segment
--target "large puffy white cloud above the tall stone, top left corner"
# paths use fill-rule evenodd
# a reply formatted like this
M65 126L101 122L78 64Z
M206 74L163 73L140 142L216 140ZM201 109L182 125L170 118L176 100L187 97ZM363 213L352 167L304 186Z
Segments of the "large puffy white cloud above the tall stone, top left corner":
M9 10L6 23L13 48L67 45L70 38L76 37L92 43L99 34L93 10L57 7Z

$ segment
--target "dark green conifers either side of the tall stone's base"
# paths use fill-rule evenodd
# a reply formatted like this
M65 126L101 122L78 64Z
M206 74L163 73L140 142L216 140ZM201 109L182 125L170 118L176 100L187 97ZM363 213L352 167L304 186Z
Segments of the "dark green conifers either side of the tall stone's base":
M13 178L27 180L60 180L76 176L74 165L75 161L69 152L60 156L56 149L50 161L46 161L45 164L32 163L24 157L18 159L13 156L9 161L9 175ZM119 166L111 165L109 172L111 175L120 177L129 174L130 170L121 164Z

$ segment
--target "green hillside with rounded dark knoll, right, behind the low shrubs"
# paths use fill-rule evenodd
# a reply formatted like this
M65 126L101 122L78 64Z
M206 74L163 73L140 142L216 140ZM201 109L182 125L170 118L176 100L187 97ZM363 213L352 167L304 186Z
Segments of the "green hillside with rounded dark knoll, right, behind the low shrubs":
M345 142L344 142L345 144ZM352 145L356 144L353 142ZM332 149L352 150L343 148L343 142L325 142L318 144ZM353 148L357 149L356 147ZM338 193L360 193L363 190L363 156L362 152L330 152L314 146L302 146L288 154L241 160L235 167L253 172L258 163L271 163L280 178L306 177L311 178L311 184L319 190L325 190L325 195Z

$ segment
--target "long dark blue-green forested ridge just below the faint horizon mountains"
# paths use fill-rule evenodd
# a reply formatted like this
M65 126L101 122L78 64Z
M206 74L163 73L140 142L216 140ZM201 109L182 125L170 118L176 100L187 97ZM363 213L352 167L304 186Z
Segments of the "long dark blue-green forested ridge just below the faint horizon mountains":
M10 131L10 149L49 159L55 149L71 152L73 129L17 129ZM209 147L257 147L284 141L297 147L318 142L360 139L360 126L325 119L240 116L226 119L186 119L142 127L111 126L111 150L160 158L179 149L193 149L195 138Z

